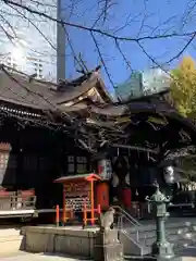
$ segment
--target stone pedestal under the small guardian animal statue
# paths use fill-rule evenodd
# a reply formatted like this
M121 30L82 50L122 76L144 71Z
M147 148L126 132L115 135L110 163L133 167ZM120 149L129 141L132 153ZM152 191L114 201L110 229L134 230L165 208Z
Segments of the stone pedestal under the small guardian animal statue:
M118 239L118 231L98 232L94 241L95 261L123 261L123 245Z

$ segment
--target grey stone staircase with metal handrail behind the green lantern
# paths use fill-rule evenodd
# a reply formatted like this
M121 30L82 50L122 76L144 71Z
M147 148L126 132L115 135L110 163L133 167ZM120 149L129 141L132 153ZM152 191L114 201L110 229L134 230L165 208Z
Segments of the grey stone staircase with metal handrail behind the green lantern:
M125 257L150 254L156 241L155 221L136 221L128 213L121 213L118 224L119 238L124 247ZM169 217L166 221L167 239L173 245L175 253L184 251L196 243L196 219Z

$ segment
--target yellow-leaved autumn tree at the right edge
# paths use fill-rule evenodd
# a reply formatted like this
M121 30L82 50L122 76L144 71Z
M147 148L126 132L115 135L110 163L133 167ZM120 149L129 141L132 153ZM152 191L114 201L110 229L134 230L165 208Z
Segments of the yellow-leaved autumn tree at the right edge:
M196 116L196 65L185 57L180 66L171 72L171 94L174 105L184 116Z

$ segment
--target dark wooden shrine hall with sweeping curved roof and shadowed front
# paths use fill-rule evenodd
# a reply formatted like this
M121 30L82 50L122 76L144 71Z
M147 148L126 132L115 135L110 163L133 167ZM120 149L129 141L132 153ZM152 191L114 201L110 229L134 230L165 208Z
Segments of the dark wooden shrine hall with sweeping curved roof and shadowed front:
M168 95L114 102L100 67L57 85L1 66L0 216L62 207L62 186L53 183L62 176L95 173L111 187L115 172L122 187L128 173L134 190L149 176L140 171L135 181L136 164L155 167L173 150L195 146L195 126ZM124 157L128 164L120 170Z

